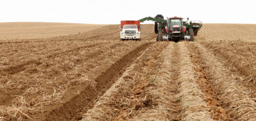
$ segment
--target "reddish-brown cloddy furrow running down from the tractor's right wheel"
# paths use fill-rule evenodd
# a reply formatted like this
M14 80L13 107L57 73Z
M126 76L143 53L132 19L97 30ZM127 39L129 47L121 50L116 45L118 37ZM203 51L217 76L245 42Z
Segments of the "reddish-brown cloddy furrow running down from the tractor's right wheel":
M189 46L188 43L186 43L186 45ZM206 101L207 106L210 107L208 111L211 112L211 117L213 117L214 120L230 121L231 118L228 115L229 112L221 107L222 104L220 104L220 99L218 98L220 92L213 89L213 84L211 84L208 80L208 76L205 73L205 70L200 67L200 64L198 63L198 61L200 61L200 58L197 56L195 50L190 49L189 51L190 58L193 64L192 68L195 71L195 76L197 79L197 84L199 84L202 92L205 93L205 97L203 100Z

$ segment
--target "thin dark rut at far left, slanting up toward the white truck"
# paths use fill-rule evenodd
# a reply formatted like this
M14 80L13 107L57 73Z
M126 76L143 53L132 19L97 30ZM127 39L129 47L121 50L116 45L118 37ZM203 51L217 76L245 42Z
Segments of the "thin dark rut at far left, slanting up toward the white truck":
M56 55L59 55L59 54L64 54L64 53L68 53L68 52L72 52L72 51L79 51L80 49L84 49L84 48L87 48L87 47L95 47L96 45L101 45L101 44L104 44L104 43L100 43L100 44L92 44L92 45L86 45L86 46L83 46L83 47L78 47L76 49L71 49L71 50L67 50L65 52L58 52L58 53L53 53L51 55L47 55L45 58L52 58L52 57L55 57ZM12 75L12 74L16 74L20 71L24 71L26 68L24 68L24 66L27 66L29 64L36 64L36 66L42 64L40 62L41 58L37 58L37 59L34 59L34 60L30 60L30 61L27 61L25 63L22 63L22 64L18 64L16 66L11 66L11 67L8 67L6 69L2 69L0 72L1 72L1 76L7 76L7 75Z

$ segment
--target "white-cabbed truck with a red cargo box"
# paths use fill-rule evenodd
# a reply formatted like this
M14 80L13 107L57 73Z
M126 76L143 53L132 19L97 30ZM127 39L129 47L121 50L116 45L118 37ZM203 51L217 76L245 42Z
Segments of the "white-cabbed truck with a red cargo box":
M121 21L121 25L119 26L120 39L124 41L125 39L137 39L140 40L140 29L142 26L140 25L140 21L134 20L126 20Z

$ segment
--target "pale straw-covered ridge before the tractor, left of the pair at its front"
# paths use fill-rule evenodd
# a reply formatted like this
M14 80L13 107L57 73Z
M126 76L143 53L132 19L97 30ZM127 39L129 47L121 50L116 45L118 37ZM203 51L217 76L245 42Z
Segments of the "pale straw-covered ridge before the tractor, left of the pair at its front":
M144 103L153 106L140 108L130 120L181 120L182 108L177 96L180 86L176 81L179 71L175 68L178 66L175 46L174 42L168 42L168 46L155 61L146 62L147 66L143 71L150 74L146 79L150 86L142 88L142 92L147 95L140 98L145 99ZM157 64L159 65L156 66Z

